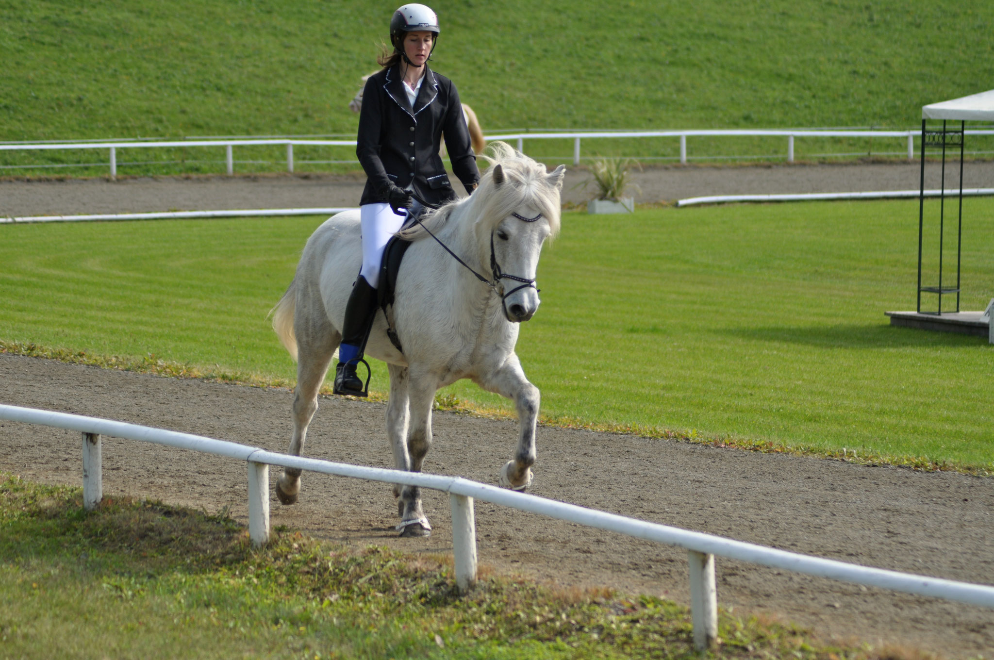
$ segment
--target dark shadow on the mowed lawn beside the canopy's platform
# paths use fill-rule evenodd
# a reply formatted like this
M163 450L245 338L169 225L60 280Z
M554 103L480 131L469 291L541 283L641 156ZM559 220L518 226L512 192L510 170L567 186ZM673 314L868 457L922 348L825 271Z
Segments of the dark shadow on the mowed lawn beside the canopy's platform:
M820 348L939 348L988 345L986 337L902 328L886 323L824 326L767 326L718 330L740 339L802 344Z

